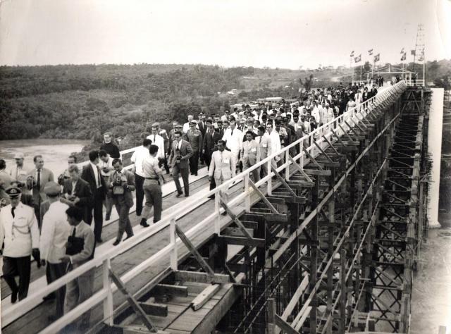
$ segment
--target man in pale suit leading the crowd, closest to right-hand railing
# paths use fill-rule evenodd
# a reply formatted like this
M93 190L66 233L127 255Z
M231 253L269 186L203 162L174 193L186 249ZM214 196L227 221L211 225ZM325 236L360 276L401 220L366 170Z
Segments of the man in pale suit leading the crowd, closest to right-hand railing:
M214 178L216 187L222 185L235 176L236 164L235 155L226 151L226 142L219 140L218 151L214 151L211 156L209 180Z

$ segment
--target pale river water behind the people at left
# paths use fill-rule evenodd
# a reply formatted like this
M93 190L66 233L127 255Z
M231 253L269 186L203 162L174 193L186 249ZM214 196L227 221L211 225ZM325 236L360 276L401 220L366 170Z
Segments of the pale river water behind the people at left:
M0 140L0 159L6 161L6 170L14 163L14 154L25 154L25 165L33 168L33 156L41 154L44 158L44 167L54 172L55 178L67 168L68 156L79 152L89 144L89 140Z

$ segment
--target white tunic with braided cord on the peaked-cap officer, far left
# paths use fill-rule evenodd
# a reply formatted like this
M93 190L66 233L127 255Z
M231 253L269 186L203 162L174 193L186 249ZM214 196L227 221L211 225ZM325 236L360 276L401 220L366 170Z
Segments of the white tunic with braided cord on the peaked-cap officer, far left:
M20 202L11 214L11 204L0 211L0 244L4 242L3 255L8 257L30 256L39 247L39 229L35 210Z

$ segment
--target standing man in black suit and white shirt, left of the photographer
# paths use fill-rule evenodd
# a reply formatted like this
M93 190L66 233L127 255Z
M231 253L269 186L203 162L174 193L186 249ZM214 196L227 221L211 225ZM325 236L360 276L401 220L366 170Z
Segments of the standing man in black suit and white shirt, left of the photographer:
M94 236L97 242L102 242L101 228L104 223L102 206L106 195L106 184L104 178L100 175L99 167L97 167L99 159L99 151L89 152L89 163L83 166L82 179L89 183L93 199L86 223L91 225L92 211L94 211Z

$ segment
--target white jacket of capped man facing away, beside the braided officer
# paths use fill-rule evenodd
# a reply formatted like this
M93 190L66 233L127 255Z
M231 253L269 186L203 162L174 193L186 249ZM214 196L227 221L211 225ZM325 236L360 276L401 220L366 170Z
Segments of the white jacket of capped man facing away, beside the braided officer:
M66 242L70 235L70 225L66 218L68 207L61 202L54 202L42 218L39 252L41 259L51 264L60 263L59 259L66 254Z

